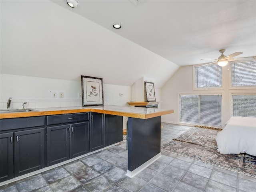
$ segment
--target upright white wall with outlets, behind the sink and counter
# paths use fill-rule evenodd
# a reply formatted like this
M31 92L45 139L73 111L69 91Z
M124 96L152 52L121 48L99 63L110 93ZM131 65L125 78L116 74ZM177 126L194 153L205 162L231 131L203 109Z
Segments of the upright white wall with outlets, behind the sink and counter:
M11 108L21 108L23 102L28 102L26 108L82 106L82 98L78 98L81 87L80 81L0 74L0 108L6 108L10 96ZM52 98L52 92L57 98ZM64 98L59 97L60 92ZM131 99L130 86L103 84L103 93L108 105L126 106Z

